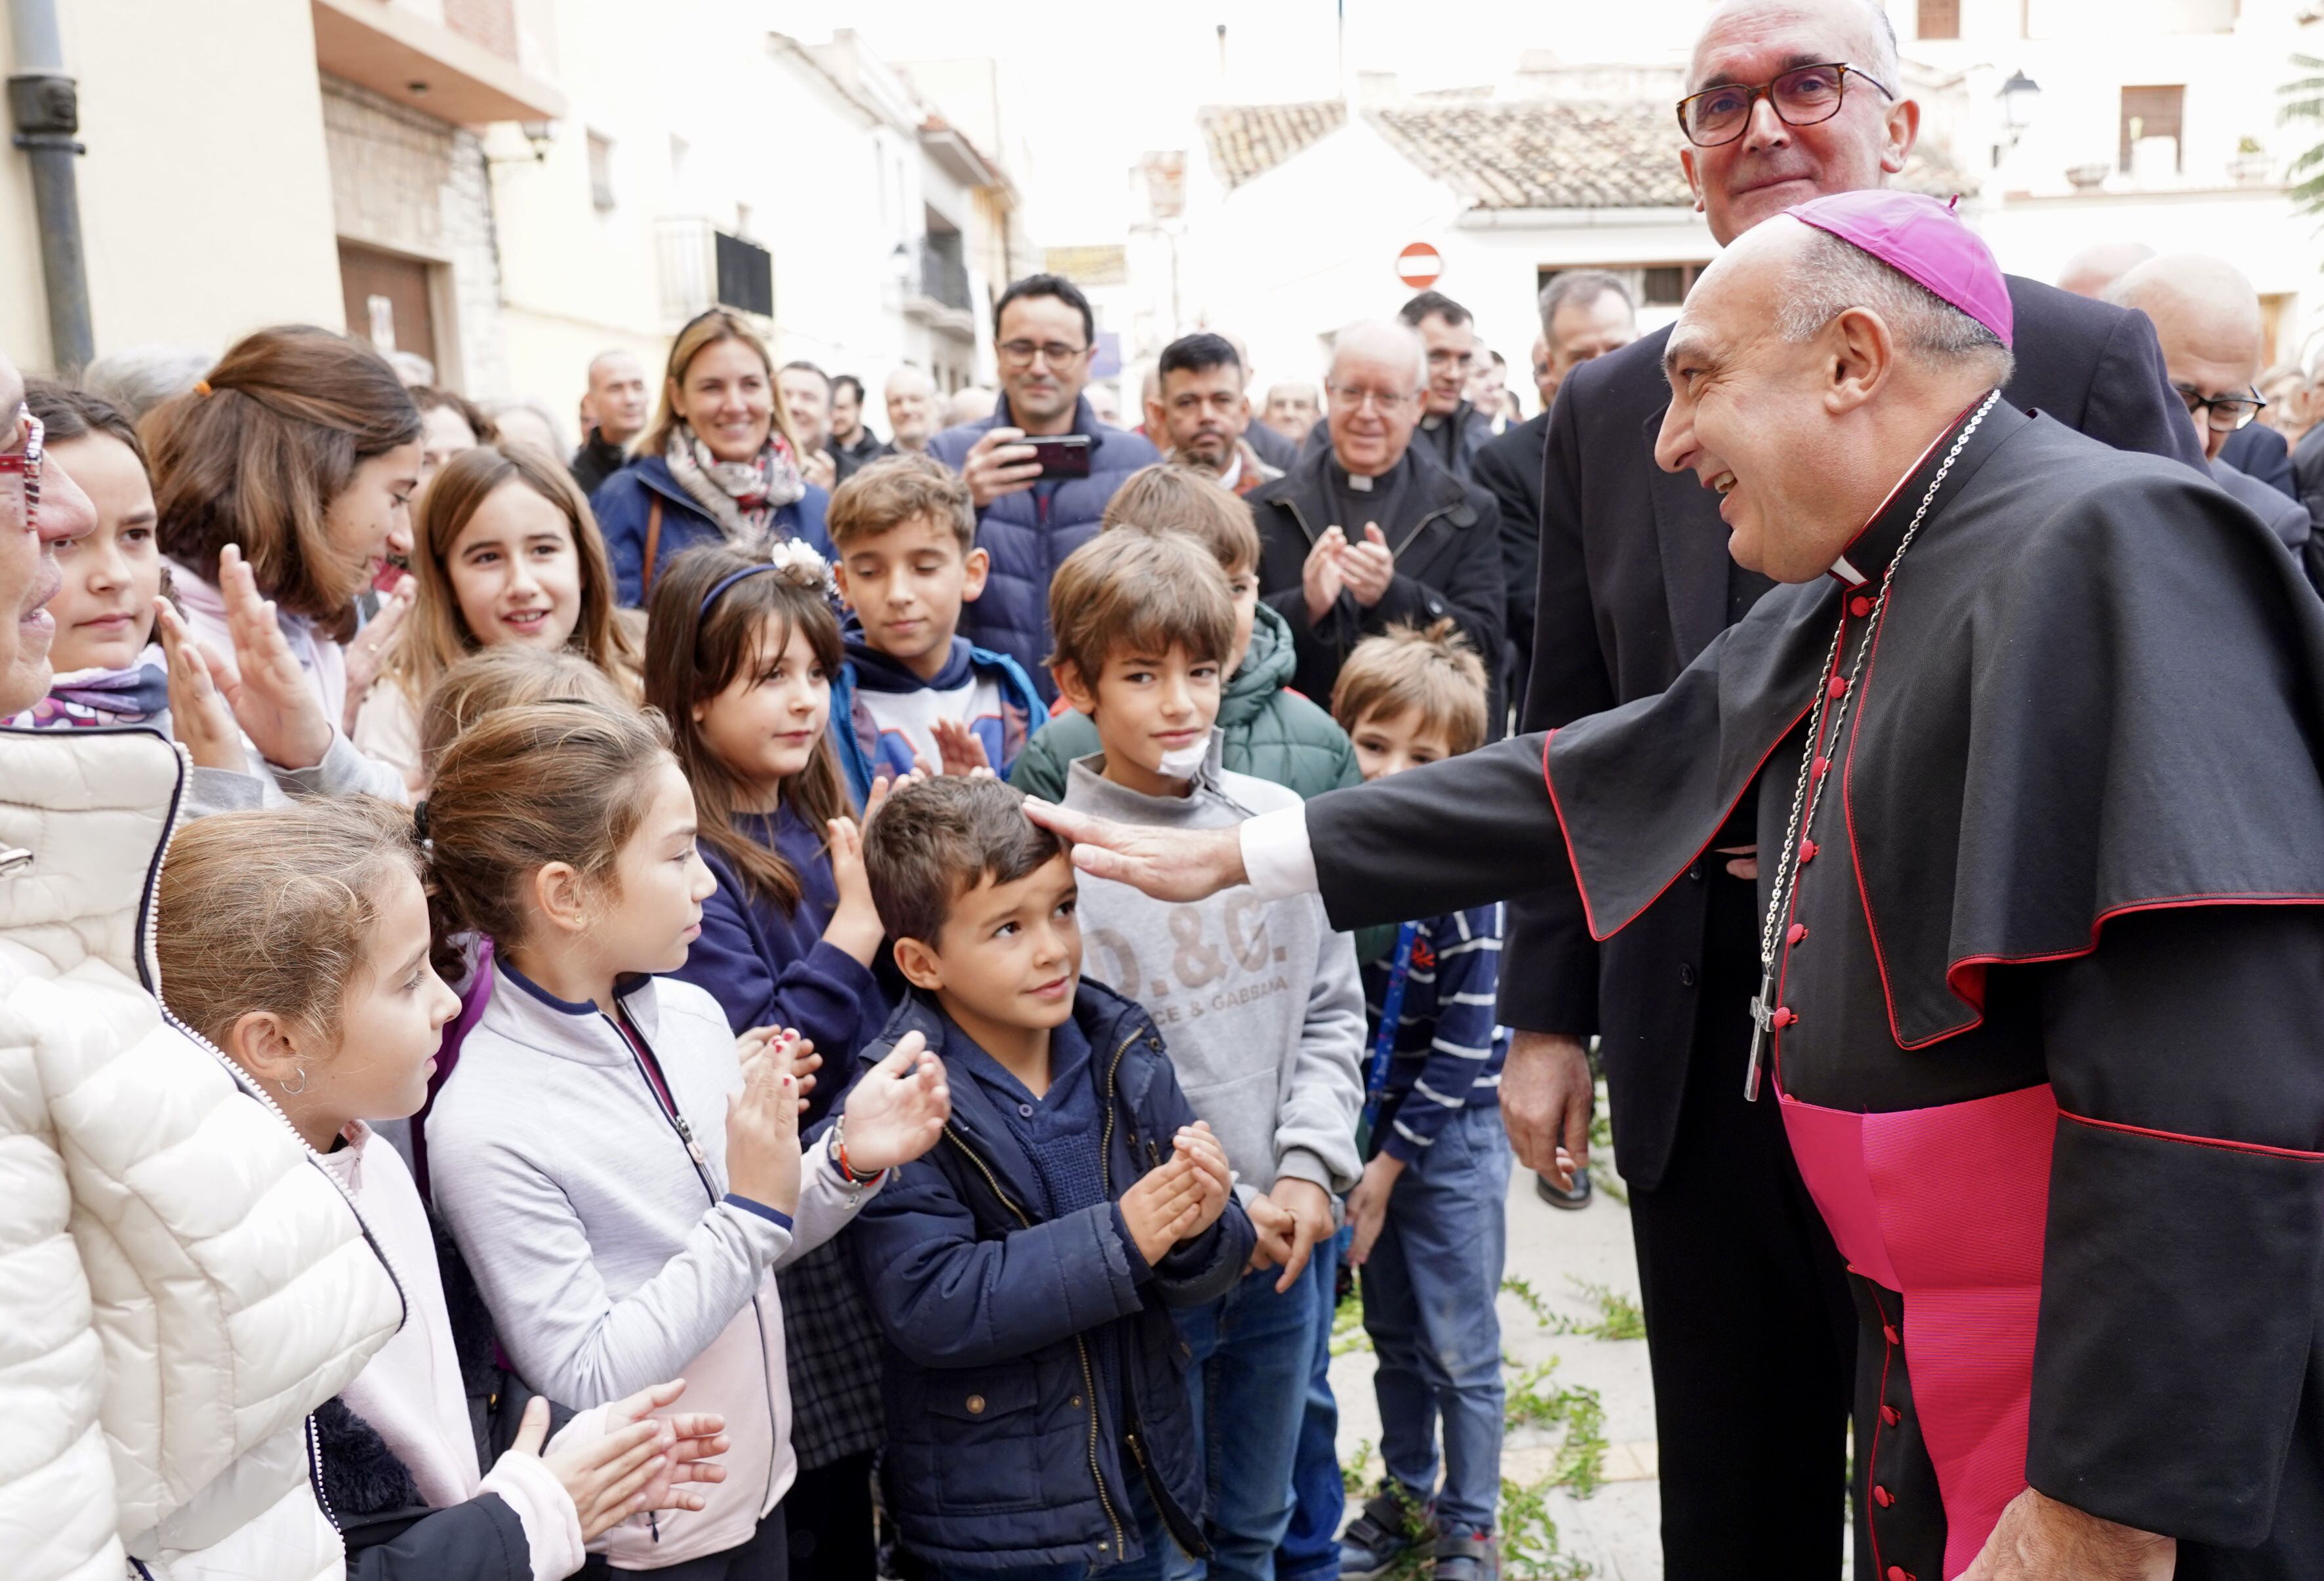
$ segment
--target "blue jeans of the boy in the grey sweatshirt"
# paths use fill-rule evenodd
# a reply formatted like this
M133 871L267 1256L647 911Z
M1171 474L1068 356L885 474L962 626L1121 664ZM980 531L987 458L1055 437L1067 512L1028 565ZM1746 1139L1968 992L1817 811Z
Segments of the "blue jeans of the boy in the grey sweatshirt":
M1325 1258L1276 1295L1278 1267L1243 1274L1208 1307L1178 1314L1192 1351L1185 1374L1211 1481L1208 1565L1171 1553L1171 1581L1274 1581L1276 1544L1292 1523L1292 1453L1306 1416L1315 1351L1315 1281ZM1215 1409L1211 1409L1215 1407Z

